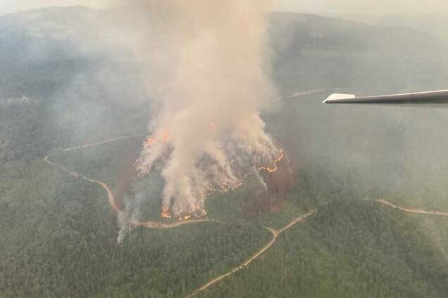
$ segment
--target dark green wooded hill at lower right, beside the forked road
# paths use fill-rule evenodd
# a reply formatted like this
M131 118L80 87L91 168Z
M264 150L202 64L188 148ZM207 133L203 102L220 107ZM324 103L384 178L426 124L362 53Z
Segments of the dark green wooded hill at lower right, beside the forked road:
M448 261L418 219L375 202L335 200L199 297L447 295Z

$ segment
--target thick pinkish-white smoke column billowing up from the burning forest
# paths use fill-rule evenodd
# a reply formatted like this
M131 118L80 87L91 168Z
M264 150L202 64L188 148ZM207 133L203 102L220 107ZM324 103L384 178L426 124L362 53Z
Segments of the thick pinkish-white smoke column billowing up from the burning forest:
M137 170L161 169L163 215L203 215L214 190L274 169L282 151L260 110L268 75L268 4L260 0L160 0L135 6L136 56L154 100ZM144 38L142 38L144 37Z

